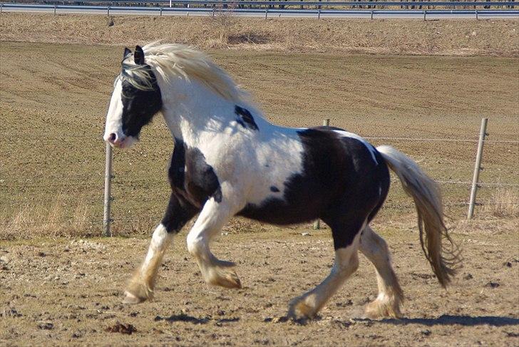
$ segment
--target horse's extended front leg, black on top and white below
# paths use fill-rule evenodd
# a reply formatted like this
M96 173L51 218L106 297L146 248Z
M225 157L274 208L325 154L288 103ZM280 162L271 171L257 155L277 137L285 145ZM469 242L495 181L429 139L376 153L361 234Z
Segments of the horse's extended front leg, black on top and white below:
M143 264L135 271L132 279L125 289L125 304L138 304L153 298L155 279L157 271L164 257L165 250L173 239L173 235L199 211L182 197L171 194L168 209L164 214L162 222L155 228L151 238L148 254Z

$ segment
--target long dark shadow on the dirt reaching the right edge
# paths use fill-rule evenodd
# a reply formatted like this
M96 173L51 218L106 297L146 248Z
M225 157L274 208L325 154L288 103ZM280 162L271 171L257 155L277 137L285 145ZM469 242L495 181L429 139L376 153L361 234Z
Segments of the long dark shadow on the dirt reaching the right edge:
M369 321L369 320L362 320ZM461 326L515 326L519 325L519 319L513 317L502 316L452 316L443 314L438 318L386 318L376 321L379 323L407 325L407 324L421 324L424 326L446 326L458 324Z

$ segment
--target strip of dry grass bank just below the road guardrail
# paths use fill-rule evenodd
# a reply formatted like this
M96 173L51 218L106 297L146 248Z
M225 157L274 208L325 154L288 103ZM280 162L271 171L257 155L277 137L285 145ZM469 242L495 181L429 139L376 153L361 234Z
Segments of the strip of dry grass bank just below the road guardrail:
M448 19L260 19L216 16L4 13L1 41L133 46L164 40L200 48L443 56L518 56L517 21Z

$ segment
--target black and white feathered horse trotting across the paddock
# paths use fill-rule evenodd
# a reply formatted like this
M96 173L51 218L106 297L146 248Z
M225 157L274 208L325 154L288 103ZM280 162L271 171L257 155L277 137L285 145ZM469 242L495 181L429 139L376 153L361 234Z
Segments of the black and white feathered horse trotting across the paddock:
M385 240L369 226L389 192L392 170L413 198L420 243L441 286L455 274L457 254L444 222L441 190L416 162L394 147L374 147L333 127L284 128L269 123L250 95L205 53L180 44L125 48L113 83L103 139L128 148L162 113L173 136L170 200L148 253L124 291L125 304L153 299L168 244L198 214L187 250L203 279L241 288L231 261L210 243L233 216L276 225L322 219L335 258L321 284L289 302L287 316L313 318L359 266L362 252L376 269L379 295L369 318L401 317L402 289Z

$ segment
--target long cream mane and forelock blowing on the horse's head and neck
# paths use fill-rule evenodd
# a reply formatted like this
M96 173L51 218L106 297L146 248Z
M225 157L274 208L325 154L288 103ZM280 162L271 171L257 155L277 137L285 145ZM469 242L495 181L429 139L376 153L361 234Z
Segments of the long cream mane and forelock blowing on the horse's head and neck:
M143 47L145 63L155 75L165 81L182 76L187 81L196 79L207 88L235 103L250 103L250 95L242 90L232 78L217 66L211 58L192 46L178 43L148 43ZM135 86L150 88L150 74L143 66L134 63L133 56L123 60L123 78Z

